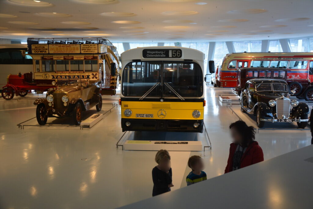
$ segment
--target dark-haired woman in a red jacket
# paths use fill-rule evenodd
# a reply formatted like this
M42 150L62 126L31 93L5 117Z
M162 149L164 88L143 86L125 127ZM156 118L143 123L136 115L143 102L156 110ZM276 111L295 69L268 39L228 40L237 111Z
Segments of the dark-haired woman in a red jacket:
M254 128L244 121L229 126L233 143L230 144L225 173L238 170L264 160L262 148L254 141Z

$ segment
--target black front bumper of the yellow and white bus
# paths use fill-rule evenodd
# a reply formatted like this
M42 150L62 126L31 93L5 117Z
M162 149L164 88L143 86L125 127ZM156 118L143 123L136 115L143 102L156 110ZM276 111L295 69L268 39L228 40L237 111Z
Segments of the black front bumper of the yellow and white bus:
M130 125L127 127L126 122ZM128 123L128 124L129 124ZM202 133L203 120L164 120L164 119L128 119L121 118L124 131L169 131ZM195 128L194 126L198 126Z

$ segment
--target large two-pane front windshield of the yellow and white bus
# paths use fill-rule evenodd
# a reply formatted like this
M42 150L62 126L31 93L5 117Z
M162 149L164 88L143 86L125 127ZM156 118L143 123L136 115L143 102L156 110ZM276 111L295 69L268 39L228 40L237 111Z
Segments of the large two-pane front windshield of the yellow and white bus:
M151 90L152 89L152 90ZM150 91L150 92L149 92ZM127 64L122 77L125 97L201 97L203 73L191 61L139 61Z

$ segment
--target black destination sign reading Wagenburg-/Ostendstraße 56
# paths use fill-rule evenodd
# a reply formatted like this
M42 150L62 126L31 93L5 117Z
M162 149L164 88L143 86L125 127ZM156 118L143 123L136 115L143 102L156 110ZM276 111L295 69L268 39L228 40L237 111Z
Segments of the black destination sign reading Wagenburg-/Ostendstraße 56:
M144 49L142 50L143 58L181 58L182 50L180 49Z

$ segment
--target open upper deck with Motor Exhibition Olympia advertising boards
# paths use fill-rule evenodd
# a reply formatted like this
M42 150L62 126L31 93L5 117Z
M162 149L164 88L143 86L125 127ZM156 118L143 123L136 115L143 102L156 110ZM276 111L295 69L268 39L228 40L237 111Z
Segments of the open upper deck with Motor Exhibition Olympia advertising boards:
M28 38L28 54L104 54L107 40L104 38Z

